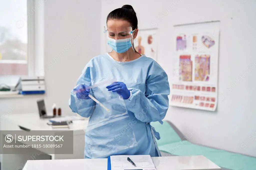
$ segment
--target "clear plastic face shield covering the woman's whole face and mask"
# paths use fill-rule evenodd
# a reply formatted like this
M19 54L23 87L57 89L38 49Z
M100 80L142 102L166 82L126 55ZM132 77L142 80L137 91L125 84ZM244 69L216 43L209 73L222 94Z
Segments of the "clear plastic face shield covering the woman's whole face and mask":
M126 28L106 28L104 27L105 33L105 46L106 51L111 53L113 50L117 53L124 53L133 44L133 33L132 27ZM134 49L133 49L134 50Z

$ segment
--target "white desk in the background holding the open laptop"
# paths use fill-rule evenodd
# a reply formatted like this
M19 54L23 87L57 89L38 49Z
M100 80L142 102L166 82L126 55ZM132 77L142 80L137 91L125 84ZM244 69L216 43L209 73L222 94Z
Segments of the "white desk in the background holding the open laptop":
M9 115L1 124L1 130L22 130L20 126L29 130L52 130L47 125L48 119L40 119L38 113ZM3 154L1 157L1 169L17 169L23 167L26 160L33 159L83 159L84 157L84 130L88 120L74 120L69 126L73 130L73 154L48 154L37 155L36 158L25 154ZM56 130L56 129L55 129ZM0 140L4 138L0 137Z

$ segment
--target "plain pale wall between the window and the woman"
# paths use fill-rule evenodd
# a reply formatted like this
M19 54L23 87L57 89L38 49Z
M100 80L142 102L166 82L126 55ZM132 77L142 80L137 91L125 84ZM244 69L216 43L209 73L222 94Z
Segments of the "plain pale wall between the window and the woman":
M37 26L44 27L36 28L37 31L42 31L37 32L40 35L37 38L40 37L43 42L38 42L36 46L43 48L45 67L40 73L45 74L46 94L41 97L0 99L0 117L12 107L15 111L8 116L20 113L38 114L36 100L44 97L47 110L51 111L52 104L56 103L62 108L63 115L75 114L68 106L70 92L76 86L84 66L92 57L100 54L100 6L100 1L45 1L44 17L37 17L44 20L36 23ZM39 9L37 8L38 11ZM76 37L79 34L81 38ZM62 54L63 49L66 53ZM54 57L58 53L61 57L56 57L56 60ZM36 54L39 55L40 50L37 49ZM51 62L56 63L51 65ZM5 116L7 117L6 114ZM0 121L4 123L3 119Z

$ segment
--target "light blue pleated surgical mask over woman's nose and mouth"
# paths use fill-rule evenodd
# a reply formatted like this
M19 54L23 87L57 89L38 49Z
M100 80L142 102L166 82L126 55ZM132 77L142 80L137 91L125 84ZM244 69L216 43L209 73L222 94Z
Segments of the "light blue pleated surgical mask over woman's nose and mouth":
M132 38L115 40L108 37L108 44L115 50L117 53L124 53L132 46Z

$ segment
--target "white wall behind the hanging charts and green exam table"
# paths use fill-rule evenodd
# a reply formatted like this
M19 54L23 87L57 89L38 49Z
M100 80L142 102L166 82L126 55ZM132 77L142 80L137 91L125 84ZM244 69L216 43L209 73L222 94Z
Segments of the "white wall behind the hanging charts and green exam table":
M247 77L231 92L226 90L229 86L234 87L232 82L256 60L253 50L256 46L256 2L177 0L175 2L179 3L175 6L172 2L102 0L101 28L106 25L107 15L125 4L132 5L137 13L139 29L158 23L158 63L170 79L174 69L171 67L173 25L220 20L219 93L225 95L225 100L218 103L216 112L169 107L165 119L172 121L184 135L192 130L191 142L256 156L256 138L253 140L251 136L256 136L256 68L252 69L251 65ZM160 17L162 13L166 14L164 18ZM104 37L102 53L105 52L103 44Z

